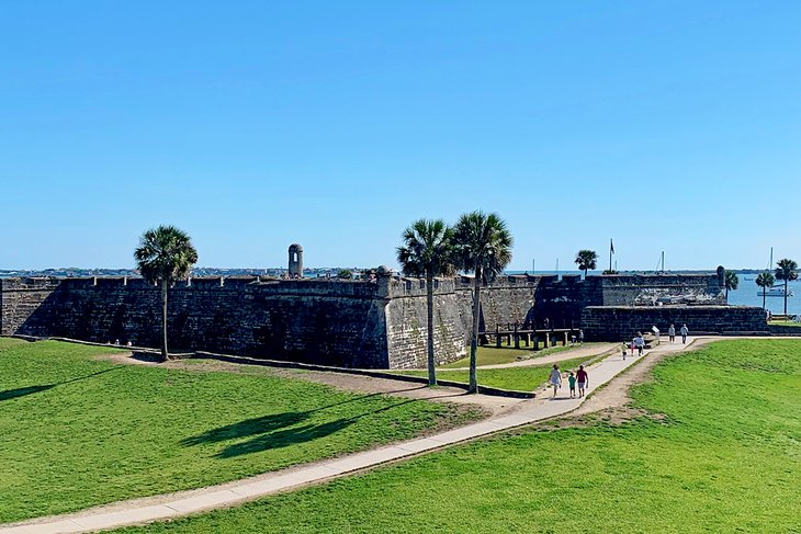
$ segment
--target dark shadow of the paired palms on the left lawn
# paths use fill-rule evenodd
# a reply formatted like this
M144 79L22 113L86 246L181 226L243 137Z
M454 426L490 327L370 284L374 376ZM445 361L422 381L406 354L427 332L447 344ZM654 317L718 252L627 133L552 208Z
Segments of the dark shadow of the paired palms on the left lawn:
M350 427L364 417L375 416L376 413L392 410L409 402L415 402L414 399L406 399L385 406L384 408L365 411L350 418L340 418L334 421L323 422L320 424L303 424L298 427L300 423L308 420L316 412L321 412L329 408L347 405L349 402L358 402L377 395L382 394L363 395L354 399L324 406L308 411L289 411L284 413L274 413L246 419L244 421L226 424L225 427L219 427L203 432L202 434L181 440L181 445L193 446L204 443L219 443L241 438L250 438L248 441L230 444L215 455L218 458L232 458L244 454L281 448L326 438Z

